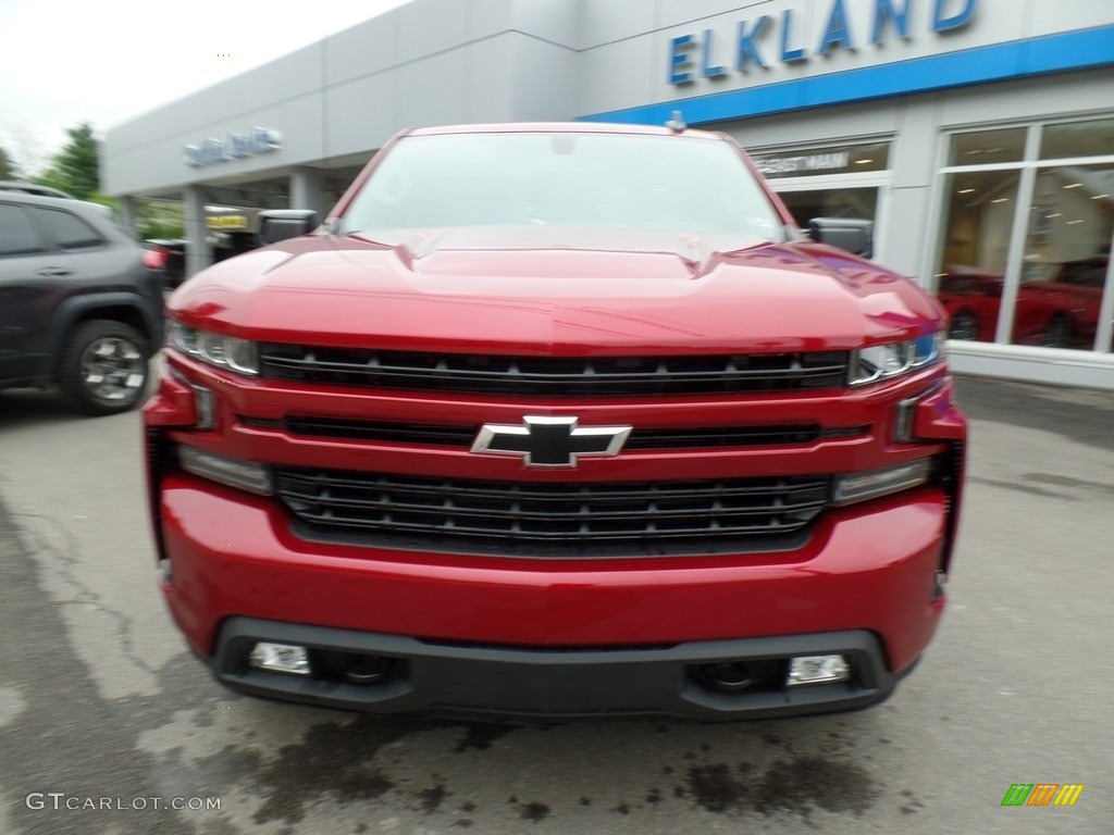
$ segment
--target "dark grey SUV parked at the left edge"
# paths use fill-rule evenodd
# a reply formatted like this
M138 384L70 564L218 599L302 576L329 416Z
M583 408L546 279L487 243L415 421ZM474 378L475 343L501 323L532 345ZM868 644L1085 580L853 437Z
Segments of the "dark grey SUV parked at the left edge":
M101 206L0 190L0 389L57 385L87 414L131 409L162 310L158 274Z

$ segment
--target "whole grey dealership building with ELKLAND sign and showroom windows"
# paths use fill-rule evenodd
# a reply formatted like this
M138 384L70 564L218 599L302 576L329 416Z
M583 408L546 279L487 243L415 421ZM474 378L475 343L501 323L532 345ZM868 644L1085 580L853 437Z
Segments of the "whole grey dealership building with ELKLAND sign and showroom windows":
M675 111L800 224L872 219L958 371L1114 390L1108 1L412 0L109 129L102 173L126 217L185 203L196 272L255 209L326 214L404 128Z

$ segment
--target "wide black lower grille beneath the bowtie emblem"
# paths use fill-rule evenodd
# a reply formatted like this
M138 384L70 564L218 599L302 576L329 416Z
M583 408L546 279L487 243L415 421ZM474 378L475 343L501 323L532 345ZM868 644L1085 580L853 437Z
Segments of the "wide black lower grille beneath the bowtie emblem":
M277 469L276 489L316 534L441 551L594 556L612 546L716 552L711 541L785 537L823 510L828 477L671 482L502 482ZM354 538L353 538L354 537Z

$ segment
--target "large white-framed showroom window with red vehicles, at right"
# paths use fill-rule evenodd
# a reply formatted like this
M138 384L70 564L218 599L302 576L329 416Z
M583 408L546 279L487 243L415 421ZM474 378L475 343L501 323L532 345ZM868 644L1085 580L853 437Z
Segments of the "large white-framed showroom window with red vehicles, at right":
M949 335L1111 351L1114 119L955 134L937 294Z

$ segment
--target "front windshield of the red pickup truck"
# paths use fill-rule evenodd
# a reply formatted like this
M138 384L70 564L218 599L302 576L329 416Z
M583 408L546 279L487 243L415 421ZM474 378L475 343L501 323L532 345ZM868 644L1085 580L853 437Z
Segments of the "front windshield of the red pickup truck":
M780 238L781 220L717 139L524 132L407 137L380 161L340 232L560 225Z

